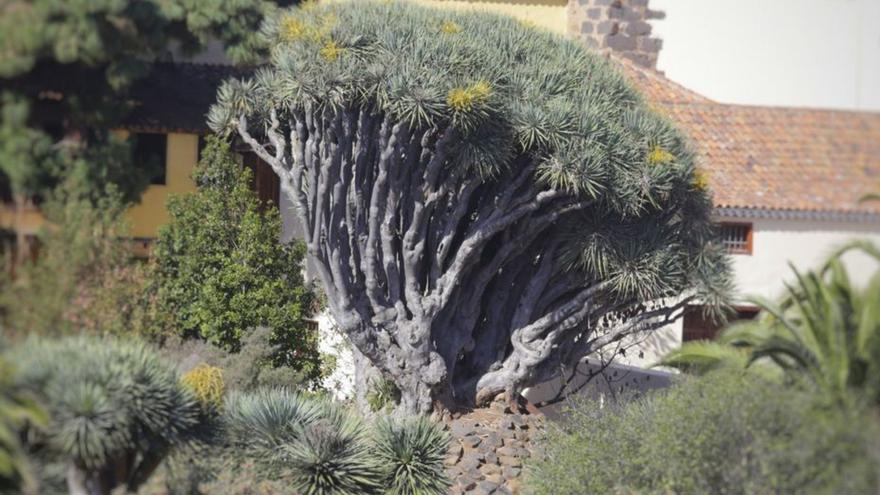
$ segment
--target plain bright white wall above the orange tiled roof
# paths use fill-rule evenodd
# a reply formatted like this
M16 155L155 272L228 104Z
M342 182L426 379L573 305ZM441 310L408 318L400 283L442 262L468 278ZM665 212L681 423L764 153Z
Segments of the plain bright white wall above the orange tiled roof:
M724 103L880 111L880 0L651 0L658 69Z

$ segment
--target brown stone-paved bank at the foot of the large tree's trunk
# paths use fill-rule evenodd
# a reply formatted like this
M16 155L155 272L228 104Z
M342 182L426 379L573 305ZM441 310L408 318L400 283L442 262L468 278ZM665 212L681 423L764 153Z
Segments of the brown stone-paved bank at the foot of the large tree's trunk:
M446 471L452 494L520 493L523 464L537 454L532 440L544 427L544 416L506 409L503 402L451 419L452 436Z

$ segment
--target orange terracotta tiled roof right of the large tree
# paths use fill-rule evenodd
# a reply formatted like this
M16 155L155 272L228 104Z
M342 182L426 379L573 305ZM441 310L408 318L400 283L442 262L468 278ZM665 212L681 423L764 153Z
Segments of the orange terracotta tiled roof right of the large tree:
M618 60L615 58L615 60ZM726 105L620 60L688 133L722 208L880 213L880 113Z

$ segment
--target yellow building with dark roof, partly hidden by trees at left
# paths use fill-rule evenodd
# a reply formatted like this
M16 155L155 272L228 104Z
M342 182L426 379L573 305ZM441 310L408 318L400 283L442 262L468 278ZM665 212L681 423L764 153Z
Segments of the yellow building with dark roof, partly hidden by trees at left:
M135 108L114 132L131 138L134 166L158 165L140 201L126 212L136 253L145 255L159 228L168 222L168 198L195 190L192 172L204 137L211 132L206 114L220 83L241 74L227 65L163 62L153 64L149 74L132 87ZM271 169L244 149L241 160L252 171L252 186L260 199L277 205L279 183ZM0 229L34 238L44 224L36 205L21 212L9 203L0 205Z

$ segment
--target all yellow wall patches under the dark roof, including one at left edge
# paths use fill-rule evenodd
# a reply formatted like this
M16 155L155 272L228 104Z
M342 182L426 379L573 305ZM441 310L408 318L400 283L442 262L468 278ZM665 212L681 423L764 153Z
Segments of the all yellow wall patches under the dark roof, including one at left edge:
M124 135L124 133L120 134ZM127 213L132 237L156 237L159 226L168 221L168 211L165 209L168 196L195 190L191 175L198 162L199 136L168 134L167 146L165 184L151 185L147 188L141 196L140 203ZM45 219L35 208L28 209L17 218L9 205L0 207L0 226L4 228L33 234L44 222Z

